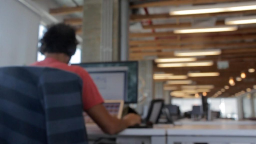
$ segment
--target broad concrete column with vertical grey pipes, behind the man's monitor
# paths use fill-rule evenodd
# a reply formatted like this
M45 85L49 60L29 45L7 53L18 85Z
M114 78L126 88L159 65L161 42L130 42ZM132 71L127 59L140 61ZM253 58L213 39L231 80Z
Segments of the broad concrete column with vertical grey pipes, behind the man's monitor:
M119 60L119 1L86 0L83 7L82 62Z

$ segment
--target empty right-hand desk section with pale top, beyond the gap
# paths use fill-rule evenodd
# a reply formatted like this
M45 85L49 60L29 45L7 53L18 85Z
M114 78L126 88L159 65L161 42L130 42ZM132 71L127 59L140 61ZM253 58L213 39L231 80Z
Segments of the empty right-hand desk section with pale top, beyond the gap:
M256 144L256 125L162 125L167 130L167 143L179 142L229 144Z

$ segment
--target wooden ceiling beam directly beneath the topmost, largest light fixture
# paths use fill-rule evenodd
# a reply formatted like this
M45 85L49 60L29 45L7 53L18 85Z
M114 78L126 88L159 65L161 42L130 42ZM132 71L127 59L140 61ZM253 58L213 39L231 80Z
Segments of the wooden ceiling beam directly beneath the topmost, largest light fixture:
M206 0L207 1L207 0ZM218 0L217 0L218 1ZM170 14L151 14L151 15L131 15L130 21L142 21L148 19L165 19L165 18L200 18L200 17L215 17L215 16L226 16L226 15L247 15L255 14L255 10L249 11L237 11L237 12L221 12L221 13L208 13L208 14L193 14L193 15L173 15Z

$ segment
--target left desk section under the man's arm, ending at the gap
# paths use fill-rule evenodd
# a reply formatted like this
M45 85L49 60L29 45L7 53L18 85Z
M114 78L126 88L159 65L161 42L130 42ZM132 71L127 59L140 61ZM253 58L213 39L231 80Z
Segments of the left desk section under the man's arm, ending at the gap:
M165 144L166 143L166 130L165 129L125 129L120 132L118 135L106 135L97 125L86 125L87 135L90 141L94 141L99 137L103 138L116 138L116 143L118 144L127 144L127 143L136 143L136 144Z

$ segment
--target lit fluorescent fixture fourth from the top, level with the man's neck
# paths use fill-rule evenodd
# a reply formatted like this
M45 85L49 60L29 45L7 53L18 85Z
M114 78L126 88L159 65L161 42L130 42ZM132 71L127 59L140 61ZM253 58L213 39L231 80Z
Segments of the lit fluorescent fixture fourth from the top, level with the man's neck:
M205 50L183 50L175 51L174 56L211 56L220 55L220 49L205 49Z

